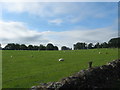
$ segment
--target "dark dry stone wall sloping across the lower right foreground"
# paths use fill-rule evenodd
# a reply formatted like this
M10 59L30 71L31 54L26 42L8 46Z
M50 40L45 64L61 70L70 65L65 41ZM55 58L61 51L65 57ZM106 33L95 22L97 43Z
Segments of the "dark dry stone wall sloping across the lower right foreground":
M109 88L111 82L120 80L120 59L113 60L100 67L81 70L80 72L63 78L59 82L42 83L33 86L32 90L62 90L82 88Z

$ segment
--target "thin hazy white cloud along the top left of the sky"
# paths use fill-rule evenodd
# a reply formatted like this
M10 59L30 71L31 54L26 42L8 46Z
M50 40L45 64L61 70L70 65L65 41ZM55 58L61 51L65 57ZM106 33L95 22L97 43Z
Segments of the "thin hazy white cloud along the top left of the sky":
M6 2L2 8L15 13L27 12L41 17L52 17L70 12L67 7L71 4L50 2Z

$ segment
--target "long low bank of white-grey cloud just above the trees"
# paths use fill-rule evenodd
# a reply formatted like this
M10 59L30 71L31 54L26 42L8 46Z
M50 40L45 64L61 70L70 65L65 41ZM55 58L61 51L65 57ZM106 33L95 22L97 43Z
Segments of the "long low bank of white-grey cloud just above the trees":
M7 43L24 43L24 44L47 44L52 42L59 46L66 45L72 47L77 42L96 43L108 41L117 37L117 30L111 27L99 28L94 30L68 30L68 31L44 31L38 32L26 28L22 22L5 22L0 21L0 42L3 45Z

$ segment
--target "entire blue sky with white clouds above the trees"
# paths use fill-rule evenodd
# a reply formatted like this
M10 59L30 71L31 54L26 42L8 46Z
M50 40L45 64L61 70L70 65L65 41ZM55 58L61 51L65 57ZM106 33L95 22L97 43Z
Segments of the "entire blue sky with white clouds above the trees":
M2 2L0 42L72 47L118 36L117 2Z

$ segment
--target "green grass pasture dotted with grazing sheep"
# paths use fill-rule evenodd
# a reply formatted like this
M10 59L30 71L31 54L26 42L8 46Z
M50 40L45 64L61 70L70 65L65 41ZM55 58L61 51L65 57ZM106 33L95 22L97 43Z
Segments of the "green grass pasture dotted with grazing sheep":
M58 81L81 69L86 69L89 61L93 61L93 66L106 64L118 58L118 49L10 50L2 51L2 55L3 88L29 88L39 83ZM59 58L64 58L65 61L59 62Z

